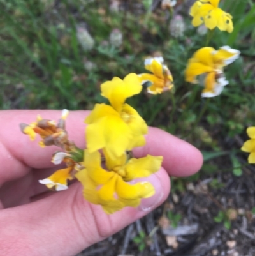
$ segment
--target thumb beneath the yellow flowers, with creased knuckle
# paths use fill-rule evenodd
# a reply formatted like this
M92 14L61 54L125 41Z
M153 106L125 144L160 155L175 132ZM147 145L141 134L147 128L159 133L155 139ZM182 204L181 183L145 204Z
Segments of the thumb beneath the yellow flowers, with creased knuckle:
M75 255L164 202L170 190L168 174L161 169L149 179L156 195L143 199L139 209L126 207L113 215L106 215L101 206L86 202L80 183L31 204L0 211L2 254Z

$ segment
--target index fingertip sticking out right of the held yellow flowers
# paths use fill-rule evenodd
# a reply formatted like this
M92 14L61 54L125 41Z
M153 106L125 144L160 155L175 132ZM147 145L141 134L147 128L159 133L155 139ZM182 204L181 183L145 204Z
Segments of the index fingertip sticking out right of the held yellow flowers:
M201 152L188 142L181 140L159 128L150 127L146 135L146 145L134 149L136 157L152 154L163 156L163 167L170 176L191 176L203 164Z

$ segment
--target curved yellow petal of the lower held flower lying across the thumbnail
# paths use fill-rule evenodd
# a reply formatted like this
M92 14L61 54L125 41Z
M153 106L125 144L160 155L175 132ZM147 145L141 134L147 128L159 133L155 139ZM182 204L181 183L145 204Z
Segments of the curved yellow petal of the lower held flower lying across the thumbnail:
M128 184L123 181L122 177L118 176L116 184L116 193L121 199L131 200L147 198L154 195L154 186L149 182L140 182L136 184Z

